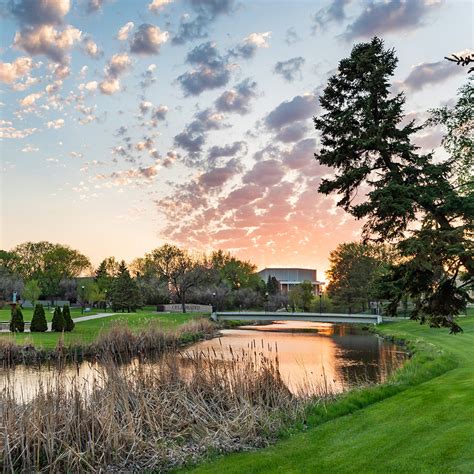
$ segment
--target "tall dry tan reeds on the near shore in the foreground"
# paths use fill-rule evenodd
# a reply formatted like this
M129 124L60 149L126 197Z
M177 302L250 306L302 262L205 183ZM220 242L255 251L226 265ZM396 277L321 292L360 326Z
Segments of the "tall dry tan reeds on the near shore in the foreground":
M129 351L120 330L97 347ZM138 335L127 337L148 347ZM267 445L316 401L292 395L278 356L258 350L234 354L230 363L213 352L176 349L152 364L114 359L103 360L92 381L58 372L28 402L7 385L0 394L4 472L166 471L210 452Z

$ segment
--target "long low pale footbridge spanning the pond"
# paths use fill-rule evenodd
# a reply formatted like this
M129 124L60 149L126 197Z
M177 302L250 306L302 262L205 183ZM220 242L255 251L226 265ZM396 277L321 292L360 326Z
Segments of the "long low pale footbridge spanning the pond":
M311 321L316 323L339 324L379 324L379 314L345 314L345 313L286 313L286 312L220 312L212 313L214 321Z

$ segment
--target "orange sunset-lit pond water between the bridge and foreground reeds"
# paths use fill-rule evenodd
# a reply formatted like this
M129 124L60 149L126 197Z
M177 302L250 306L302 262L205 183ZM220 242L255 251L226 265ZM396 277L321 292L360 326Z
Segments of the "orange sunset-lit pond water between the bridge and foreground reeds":
M350 325L279 321L222 331L221 340L200 342L193 349L215 350L227 360L231 350L277 351L280 371L296 391L309 382L328 384L336 392L361 382L383 382L406 359L395 344Z

